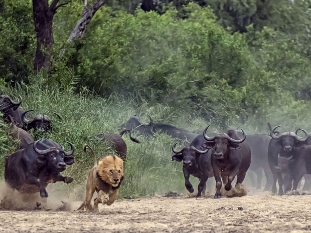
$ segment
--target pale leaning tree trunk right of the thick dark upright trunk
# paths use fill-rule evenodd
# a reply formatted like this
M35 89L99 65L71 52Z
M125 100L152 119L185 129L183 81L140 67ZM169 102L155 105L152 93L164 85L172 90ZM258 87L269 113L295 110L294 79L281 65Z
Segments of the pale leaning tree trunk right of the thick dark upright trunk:
M93 6L88 9L87 8L87 0L84 0L82 17L77 22L76 27L72 31L69 36L68 42L71 42L73 39L80 39L84 36L86 32L86 27L90 23L91 19L95 15L95 13L105 4L105 0L97 0Z

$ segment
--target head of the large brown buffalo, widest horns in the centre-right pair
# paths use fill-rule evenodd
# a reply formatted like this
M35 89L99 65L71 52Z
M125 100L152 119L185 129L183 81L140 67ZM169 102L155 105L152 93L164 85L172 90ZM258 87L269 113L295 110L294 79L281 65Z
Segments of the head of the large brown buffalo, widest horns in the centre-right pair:
M230 149L239 149L239 144L246 139L246 135L243 129L241 129L243 133L243 138L238 140L231 137L232 135L235 135L237 137L237 135L234 133L234 130L229 130L227 133L216 134L214 137L208 137L206 132L209 127L210 126L206 127L203 132L203 136L205 140L207 140L207 142L203 143L202 146L208 149L212 149L213 147L215 147L213 150L213 156L215 159L224 159L225 155L227 154L228 147Z

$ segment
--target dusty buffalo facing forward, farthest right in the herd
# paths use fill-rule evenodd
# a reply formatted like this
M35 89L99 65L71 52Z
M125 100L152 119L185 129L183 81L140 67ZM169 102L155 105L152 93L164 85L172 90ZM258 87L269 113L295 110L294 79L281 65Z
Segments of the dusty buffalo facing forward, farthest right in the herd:
M276 173L275 166L277 166L278 161L278 155L286 158L292 158L296 159L298 156L298 153L300 153L300 150L298 150L299 147L303 147L306 144L307 140L307 132L303 129L300 129L305 133L305 138L298 137L297 134L294 132L284 132L275 134L274 131L279 126L276 126L272 129L270 132L270 136L272 137L269 142L268 147L268 162L271 169L271 172L273 174L273 186L272 186L272 192L276 193L276 181L278 181L279 184L279 190L278 194L282 195L284 194L283 191L283 177L281 173ZM290 174L288 174L290 175ZM291 179L290 179L291 180ZM299 180L298 180L299 181ZM289 185L285 185L285 192L288 191Z

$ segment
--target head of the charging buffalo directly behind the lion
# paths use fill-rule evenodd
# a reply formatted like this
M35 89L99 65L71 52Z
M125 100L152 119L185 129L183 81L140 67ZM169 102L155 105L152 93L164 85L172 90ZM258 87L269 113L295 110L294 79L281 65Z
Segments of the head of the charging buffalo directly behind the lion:
M52 140L38 140L34 143L34 150L39 154L37 161L41 165L46 165L48 170L62 172L66 169L66 165L74 163L74 157L69 157L73 154L75 148L68 142L71 149L64 151L64 147Z

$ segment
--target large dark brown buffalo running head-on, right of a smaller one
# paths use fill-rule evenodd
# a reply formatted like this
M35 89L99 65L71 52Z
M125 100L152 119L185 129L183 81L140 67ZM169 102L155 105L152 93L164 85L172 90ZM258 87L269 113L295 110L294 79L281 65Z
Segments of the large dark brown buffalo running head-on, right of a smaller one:
M234 130L228 130L227 133L208 137L206 134L208 128L209 126L203 132L203 136L207 141L203 143L203 147L207 149L213 148L211 164L217 189L214 198L221 198L221 178L225 183L225 190L227 191L231 190L231 183L235 176L237 176L235 186L240 185L250 166L251 152L249 146L244 142L246 135L243 130L243 138L240 139Z

